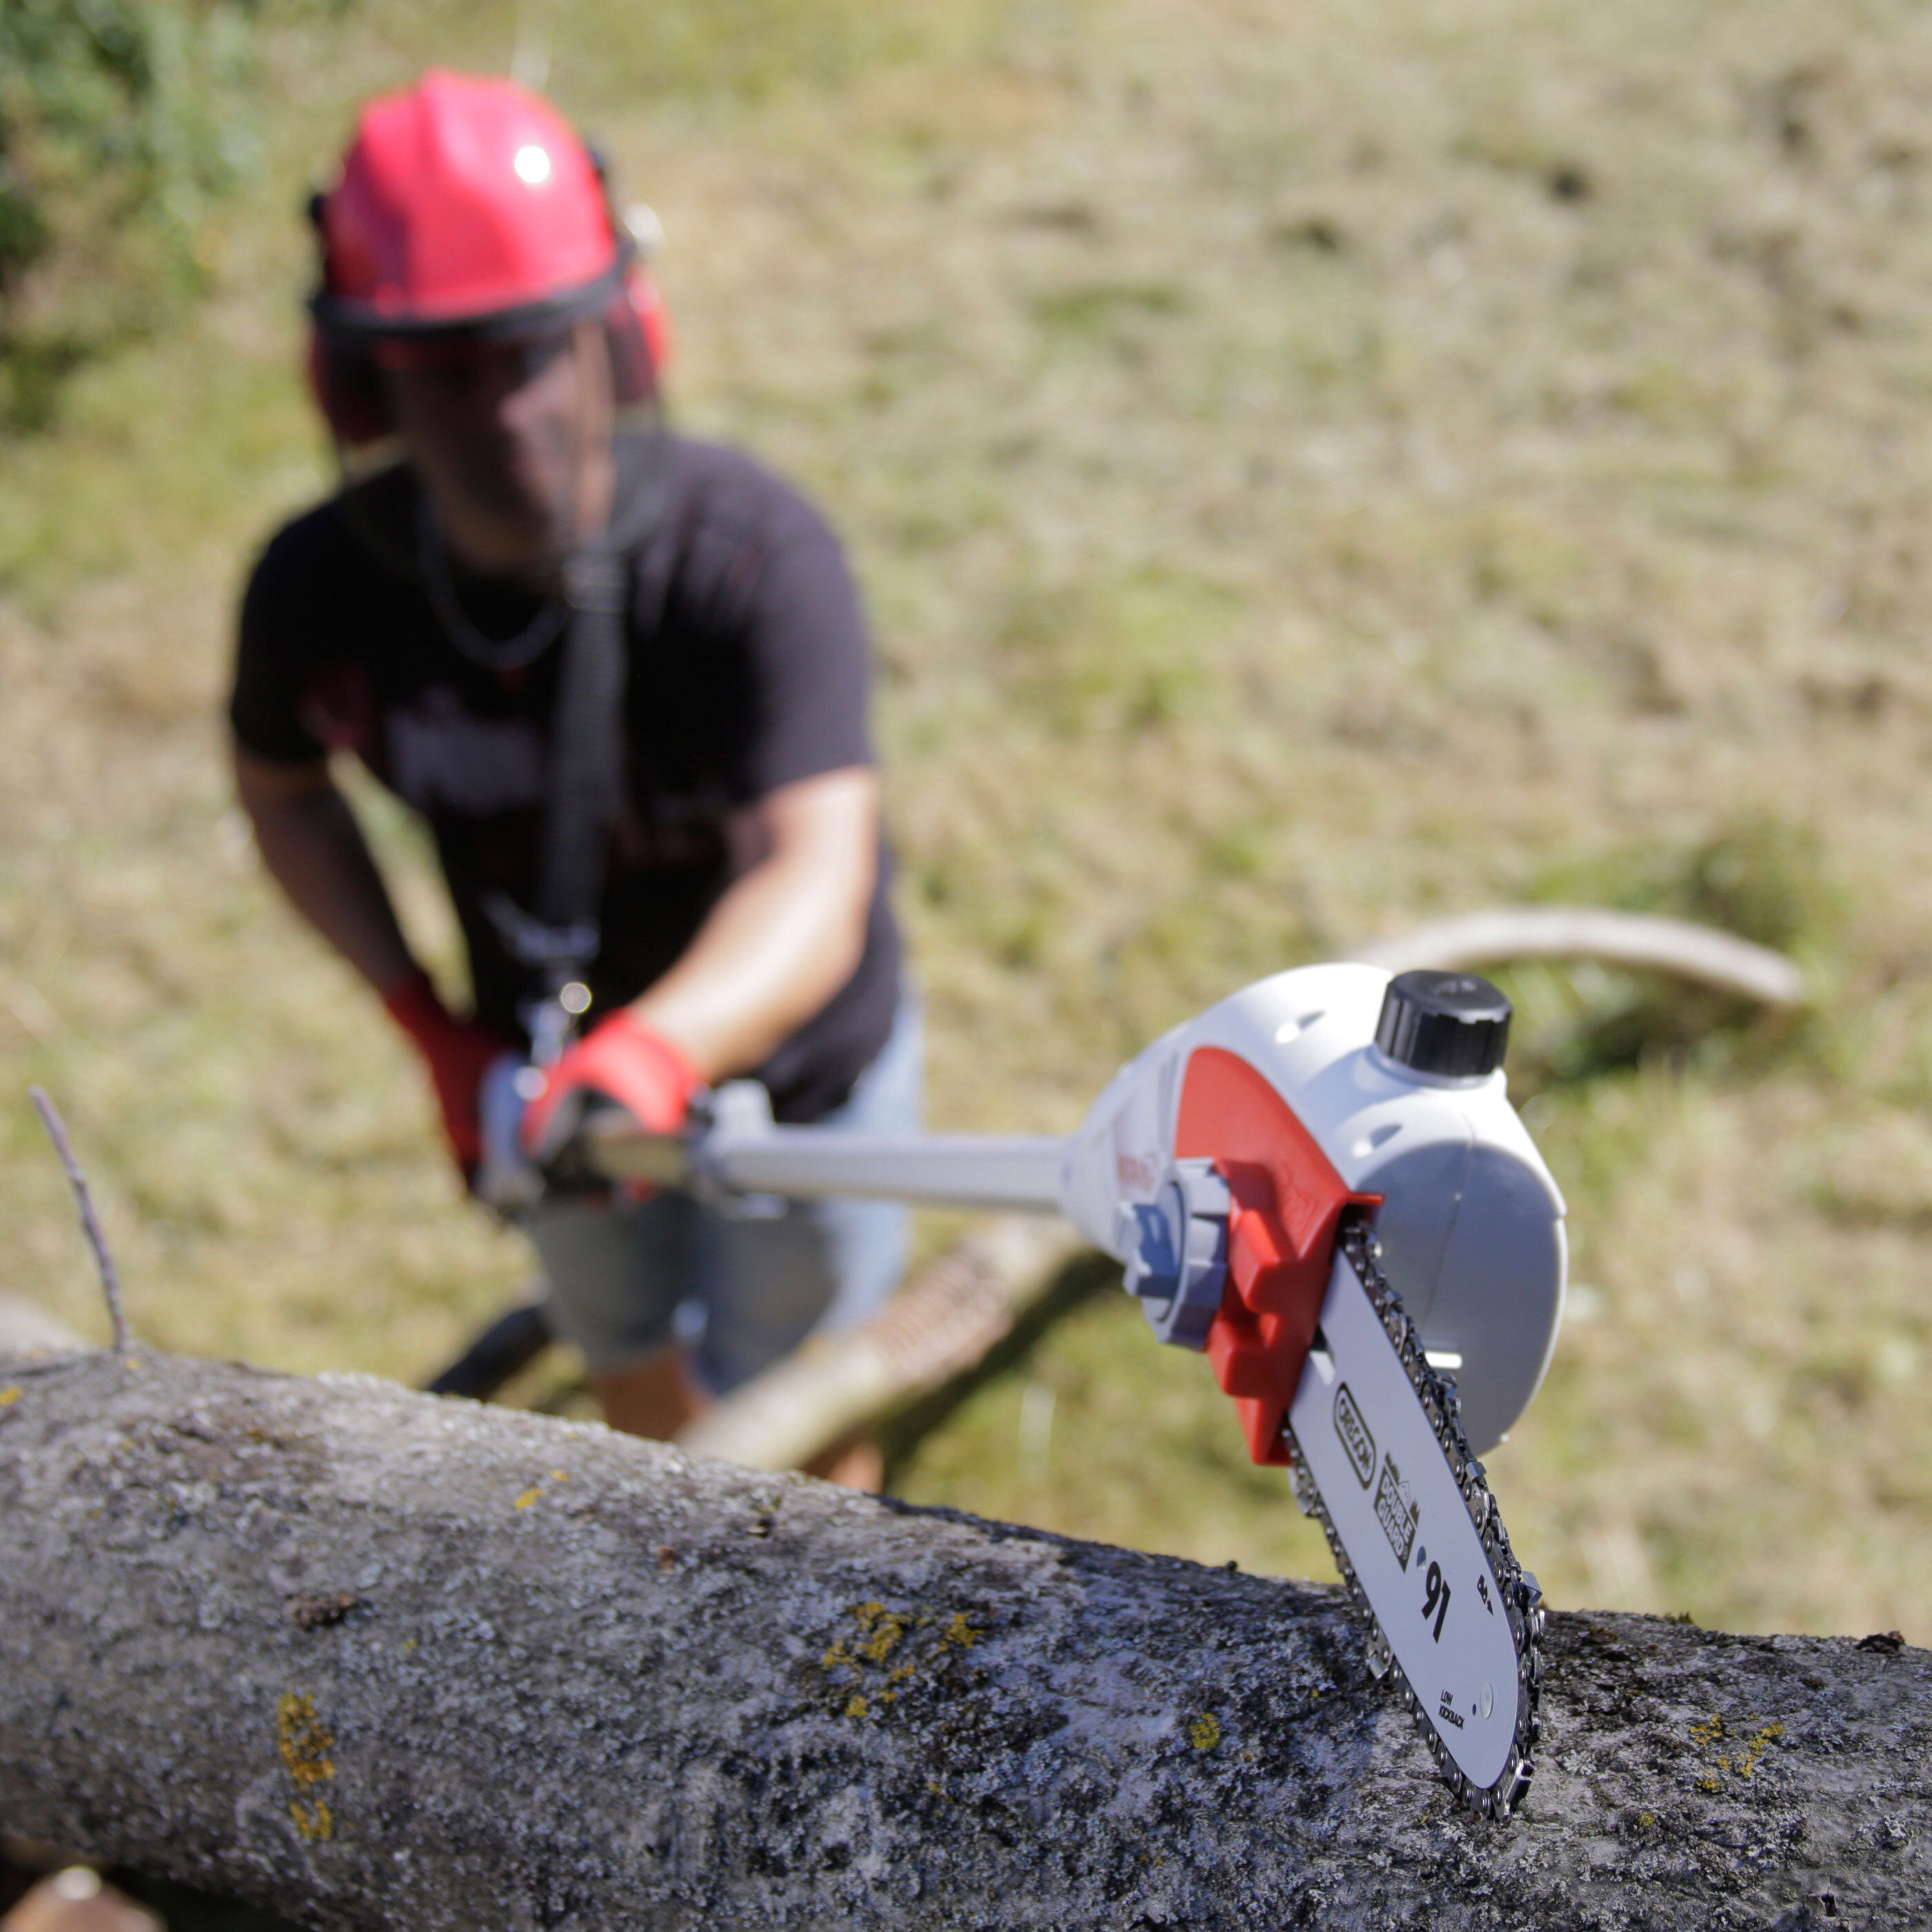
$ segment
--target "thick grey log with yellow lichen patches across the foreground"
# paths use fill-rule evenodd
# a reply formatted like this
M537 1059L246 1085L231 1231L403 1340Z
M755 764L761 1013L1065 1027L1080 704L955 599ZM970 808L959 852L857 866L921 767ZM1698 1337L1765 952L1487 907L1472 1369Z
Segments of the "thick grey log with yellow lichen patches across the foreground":
M0 1374L0 1826L309 1926L1797 1928L1932 1897L1932 1654L1559 1615L1544 1712L1528 1812L1484 1826L1331 1590L367 1378Z

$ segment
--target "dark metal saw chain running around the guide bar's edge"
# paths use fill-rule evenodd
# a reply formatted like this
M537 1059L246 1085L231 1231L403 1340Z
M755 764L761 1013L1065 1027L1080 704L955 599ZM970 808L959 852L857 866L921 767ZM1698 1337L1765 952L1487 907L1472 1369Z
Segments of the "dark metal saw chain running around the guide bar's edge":
M1430 1721L1428 1708L1416 1696L1414 1685L1408 1683L1406 1673L1395 1660L1395 1652L1389 1648L1368 1594L1356 1580L1354 1565L1349 1561L1349 1551L1335 1534L1335 1524L1321 1501L1321 1492L1308 1474L1308 1463L1294 1441L1294 1432L1283 1424L1281 1437L1294 1459L1294 1501L1304 1515L1314 1517L1321 1524L1321 1532L1327 1536L1329 1549L1335 1555L1335 1567L1341 1571L1356 1607L1368 1619L1372 1633L1370 1671L1376 1677L1395 1673L1403 1704L1428 1739L1435 1766L1449 1789L1478 1816L1499 1822L1509 1818L1528 1795L1530 1777L1536 1772L1536 1741L1542 1735L1538 1702L1542 1700L1544 1681L1544 1594L1536 1578L1517 1561L1515 1551L1509 1548L1509 1530L1503 1528L1503 1519L1495 1507L1495 1497L1490 1493L1482 1463L1470 1455L1468 1441L1463 1435L1463 1405L1455 1391L1455 1379L1430 1368L1428 1356L1422 1352L1422 1337L1416 1333L1414 1321L1408 1320L1403 1298L1389 1287L1389 1279L1381 1271L1381 1244L1366 1225L1356 1221L1341 1231L1337 1248L1354 1269L1376 1314L1381 1318L1383 1331L1395 1345L1408 1383L1416 1391L1430 1428L1435 1432L1435 1441L1441 1445L1443 1459L1449 1463L1463 1499L1468 1505L1470 1520L1476 1524L1476 1534L1482 1538L1484 1553L1495 1573L1503 1609L1509 1617L1511 1634L1517 1640L1520 1660L1517 1667L1517 1729L1511 1741L1509 1762L1493 1785L1474 1785L1451 1758L1435 1725Z

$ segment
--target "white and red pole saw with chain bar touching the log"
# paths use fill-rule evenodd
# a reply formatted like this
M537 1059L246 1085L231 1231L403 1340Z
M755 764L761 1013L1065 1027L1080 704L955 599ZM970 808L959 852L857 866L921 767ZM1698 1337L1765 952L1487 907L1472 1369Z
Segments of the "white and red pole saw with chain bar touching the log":
M1544 1609L1476 1455L1536 1393L1565 1277L1563 1196L1503 1086L1509 1016L1468 974L1304 966L1165 1034L1065 1140L779 1126L740 1080L674 1136L591 1113L564 1161L726 1213L864 1196L1066 1215L1155 1337L1208 1356L1254 1461L1293 1470L1372 1669L1457 1795L1507 1818L1534 1770Z

